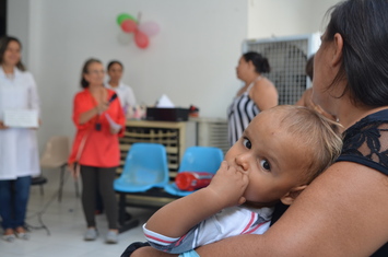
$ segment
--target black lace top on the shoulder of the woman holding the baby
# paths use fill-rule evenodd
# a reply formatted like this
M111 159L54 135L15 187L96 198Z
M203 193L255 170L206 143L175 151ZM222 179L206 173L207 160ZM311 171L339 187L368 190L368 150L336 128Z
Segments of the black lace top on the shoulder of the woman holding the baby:
M366 116L344 132L337 160L360 163L388 175L388 109Z

